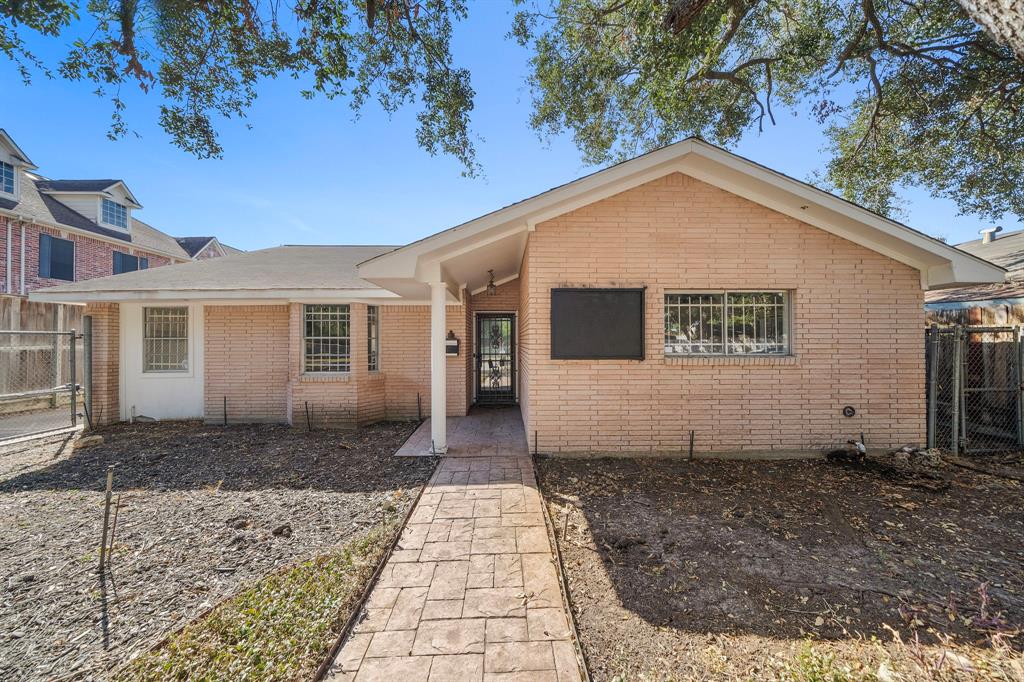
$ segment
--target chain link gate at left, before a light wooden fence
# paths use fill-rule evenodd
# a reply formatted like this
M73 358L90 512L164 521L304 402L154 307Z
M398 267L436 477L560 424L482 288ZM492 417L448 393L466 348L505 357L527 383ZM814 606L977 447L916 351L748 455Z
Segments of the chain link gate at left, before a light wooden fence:
M0 330L0 442L79 424L82 338Z

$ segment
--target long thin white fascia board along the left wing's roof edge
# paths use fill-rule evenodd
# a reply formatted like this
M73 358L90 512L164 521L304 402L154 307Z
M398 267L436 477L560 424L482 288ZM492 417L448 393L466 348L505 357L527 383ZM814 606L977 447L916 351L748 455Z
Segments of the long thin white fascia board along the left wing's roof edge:
M264 301L350 301L353 299L391 303L400 300L395 294L380 289L233 289L233 290L183 290L156 289L135 291L81 291L50 292L45 289L31 292L29 299L50 303L93 303L100 301L207 301L207 300L264 300Z

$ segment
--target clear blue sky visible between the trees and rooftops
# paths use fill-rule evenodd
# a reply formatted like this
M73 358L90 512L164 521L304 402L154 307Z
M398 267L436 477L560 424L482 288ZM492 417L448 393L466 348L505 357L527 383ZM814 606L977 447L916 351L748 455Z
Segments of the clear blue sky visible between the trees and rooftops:
M6 61L0 127L45 175L124 179L144 207L138 216L175 236L216 235L243 249L404 244L596 170L581 161L570 138L541 140L529 129L528 55L498 40L511 23L509 4L474 2L470 9L453 48L473 74L480 178L462 177L458 162L416 145L415 109L388 119L370 104L355 119L346 101L302 98L300 83L289 78L264 83L246 121L218 122L220 160L200 161L173 146L157 125L153 96L122 93L137 136L110 141L110 103L93 94L94 86L37 77L26 87ZM44 57L61 51L43 40L30 48ZM807 179L823 166L823 143L812 119L783 114L735 151ZM951 243L975 239L989 224L957 216L954 204L924 191L905 191L903 199L908 224ZM1010 217L999 224L1022 227Z

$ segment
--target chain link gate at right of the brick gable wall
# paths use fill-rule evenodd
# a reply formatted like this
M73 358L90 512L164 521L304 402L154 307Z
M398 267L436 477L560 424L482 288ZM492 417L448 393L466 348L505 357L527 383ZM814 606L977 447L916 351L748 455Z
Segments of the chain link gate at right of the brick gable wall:
M927 330L929 447L954 455L1022 449L1021 352L1019 327Z

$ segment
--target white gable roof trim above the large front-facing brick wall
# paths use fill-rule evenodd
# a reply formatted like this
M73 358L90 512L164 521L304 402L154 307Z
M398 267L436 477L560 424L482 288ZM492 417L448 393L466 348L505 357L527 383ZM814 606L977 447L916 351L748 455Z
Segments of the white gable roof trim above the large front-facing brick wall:
M839 197L690 138L598 171L359 264L359 276L433 276L457 254L671 173L684 173L909 265L922 287L1002 282L1006 270Z

